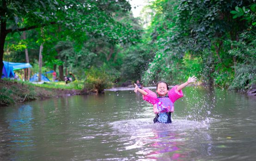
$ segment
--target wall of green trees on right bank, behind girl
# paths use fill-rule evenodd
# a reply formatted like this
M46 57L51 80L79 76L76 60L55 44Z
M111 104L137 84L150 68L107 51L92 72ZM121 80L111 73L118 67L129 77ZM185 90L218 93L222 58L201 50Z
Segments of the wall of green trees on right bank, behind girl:
M247 61L228 51L237 47L237 40L243 39L239 33L245 29L255 32L252 27L255 3L251 0L156 0L149 7L153 13L147 34L151 34L149 40L155 55L143 76L146 82L165 80L174 84L196 75L210 86L213 83L231 86L232 80L238 77L232 68L237 62L233 61L238 61L235 66L238 73L237 68L242 67L239 63ZM231 19L232 16L240 21ZM249 46L254 45L246 47ZM244 75L245 80L254 73L253 68L246 69L250 76Z

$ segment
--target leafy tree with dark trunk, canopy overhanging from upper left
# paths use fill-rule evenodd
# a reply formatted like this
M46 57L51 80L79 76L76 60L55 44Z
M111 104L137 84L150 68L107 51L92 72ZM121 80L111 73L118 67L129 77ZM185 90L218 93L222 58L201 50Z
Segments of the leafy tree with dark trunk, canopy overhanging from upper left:
M91 33L112 43L127 43L135 42L138 37L131 26L116 22L111 15L112 11L129 11L126 0L2 0L0 5L0 73L9 33L58 24L64 31L69 30L74 39Z

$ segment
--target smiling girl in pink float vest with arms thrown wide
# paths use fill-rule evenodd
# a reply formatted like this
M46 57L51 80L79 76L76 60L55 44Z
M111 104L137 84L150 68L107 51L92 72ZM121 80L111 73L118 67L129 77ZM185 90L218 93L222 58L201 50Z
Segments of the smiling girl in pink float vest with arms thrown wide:
M134 92L140 92L143 95L143 100L153 104L153 111L156 114L156 117L153 120L154 123L162 122L167 124L171 123L171 113L174 111L174 102L183 97L182 89L195 81L195 76L189 77L188 81L180 86L174 86L170 91L166 82L159 81L157 83L156 91L158 93L158 97L156 93L149 89L140 89L135 83Z

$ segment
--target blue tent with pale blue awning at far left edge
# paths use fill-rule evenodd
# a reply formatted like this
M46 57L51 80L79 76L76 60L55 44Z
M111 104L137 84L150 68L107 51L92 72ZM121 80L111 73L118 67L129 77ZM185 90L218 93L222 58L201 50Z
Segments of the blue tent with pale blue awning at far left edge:
M14 77L14 70L32 67L30 63L13 63L13 62L5 62L5 61L3 61L3 63L4 63L4 67L3 67L1 78L12 78Z

